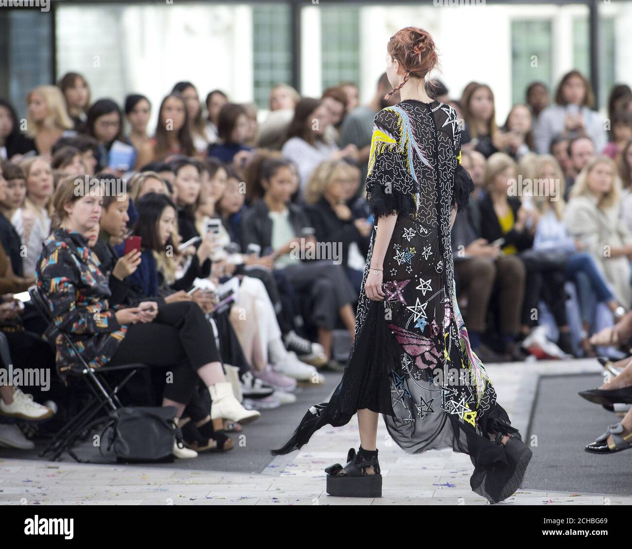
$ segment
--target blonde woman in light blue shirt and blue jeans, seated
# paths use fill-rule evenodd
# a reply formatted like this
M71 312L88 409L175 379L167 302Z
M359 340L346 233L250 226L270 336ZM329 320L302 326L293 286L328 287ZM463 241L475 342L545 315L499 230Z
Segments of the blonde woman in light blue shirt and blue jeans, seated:
M564 174L554 156L542 154L538 157L533 184L534 188L537 188L534 204L540 212L533 249L547 250L546 253L566 257L564 274L567 280L573 281L576 285L580 300L583 321L581 347L586 355L594 355L588 336L595 305L597 302L605 303L617 316L623 315L624 309L617 302L595 259L586 251L583 242L569 235L566 230Z

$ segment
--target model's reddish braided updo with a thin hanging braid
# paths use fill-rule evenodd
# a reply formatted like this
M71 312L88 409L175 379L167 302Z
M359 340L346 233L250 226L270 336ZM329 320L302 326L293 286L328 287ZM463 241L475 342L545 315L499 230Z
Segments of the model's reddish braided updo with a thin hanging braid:
M397 59L406 74L398 87L384 96L389 99L399 90L409 77L425 78L425 76L439 64L439 55L432 36L423 28L404 27L391 36L387 51L392 59ZM432 85L432 82L429 82Z

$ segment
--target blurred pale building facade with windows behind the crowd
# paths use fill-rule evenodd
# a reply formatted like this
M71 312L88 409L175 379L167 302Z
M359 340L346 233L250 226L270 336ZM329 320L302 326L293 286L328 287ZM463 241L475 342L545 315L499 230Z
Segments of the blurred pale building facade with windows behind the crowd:
M277 82L320 96L350 80L367 101L387 40L406 25L435 37L451 97L471 80L492 87L497 120L524 101L529 82L551 89L571 68L599 83L602 110L613 83L632 81L632 0L488 0L484 8L476 0L167 1L0 8L0 96L23 114L29 89L77 71L119 104L142 90L157 105L179 80L193 82L201 97L219 88L233 101L255 101L262 116Z

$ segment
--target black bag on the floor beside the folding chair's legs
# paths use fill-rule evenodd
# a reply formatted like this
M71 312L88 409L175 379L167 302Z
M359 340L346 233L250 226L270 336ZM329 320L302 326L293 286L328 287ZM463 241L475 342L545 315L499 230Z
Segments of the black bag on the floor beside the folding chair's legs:
M176 407L125 407L111 412L103 431L107 450L114 449L118 463L173 462L176 441ZM104 441L104 436L101 437Z

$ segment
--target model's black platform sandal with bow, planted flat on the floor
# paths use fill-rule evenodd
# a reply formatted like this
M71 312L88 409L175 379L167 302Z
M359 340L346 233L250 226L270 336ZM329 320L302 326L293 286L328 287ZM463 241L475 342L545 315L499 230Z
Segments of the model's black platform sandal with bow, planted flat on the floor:
M373 466L374 474L367 473ZM360 447L358 453L351 448L346 466L337 463L325 469L327 493L331 496L355 498L381 498L382 474L377 460L377 450L368 451Z

